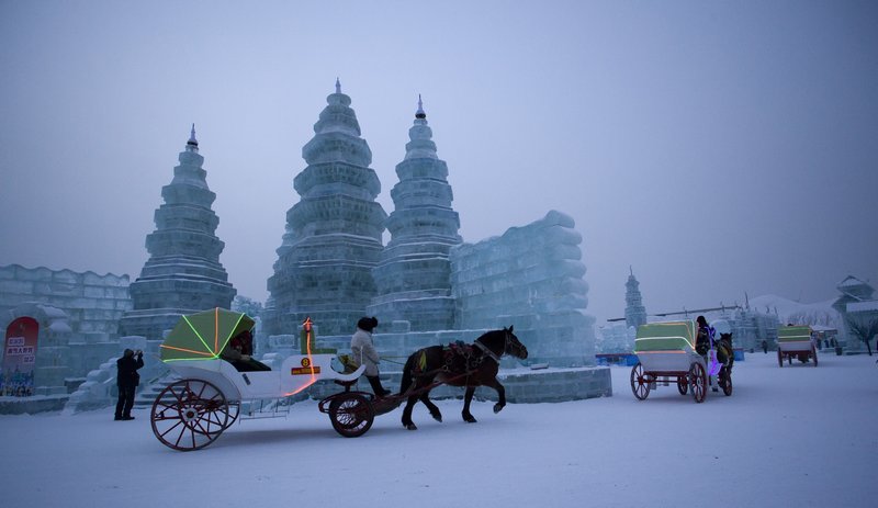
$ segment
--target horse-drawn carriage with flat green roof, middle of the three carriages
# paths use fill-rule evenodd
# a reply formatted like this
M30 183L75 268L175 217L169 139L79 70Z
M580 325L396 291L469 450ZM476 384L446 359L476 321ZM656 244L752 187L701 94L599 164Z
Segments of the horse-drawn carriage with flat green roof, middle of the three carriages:
M722 392L731 395L731 368L718 364L712 349L707 358L699 354L697 338L698 326L691 320L639 326L634 339L638 363L631 369L634 396L644 400L660 383L675 383L680 395L691 393L695 402L701 403L714 379Z

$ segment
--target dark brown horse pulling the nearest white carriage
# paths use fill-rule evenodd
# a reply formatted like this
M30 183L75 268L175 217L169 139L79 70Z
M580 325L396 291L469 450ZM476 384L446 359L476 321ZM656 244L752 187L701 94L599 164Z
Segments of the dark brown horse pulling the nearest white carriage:
M408 395L405 409L403 409L403 426L408 430L416 430L412 421L412 409L418 399L430 410L430 416L437 421L442 421L442 414L430 402L430 390L439 384L451 386L465 386L466 394L463 399L463 420L474 424L476 420L470 413L470 403L475 394L476 386L491 386L497 391L498 400L494 405L494 413L499 413L506 406L506 390L497 381L500 357L511 354L516 358L528 358L528 349L518 341L513 334L513 327L502 330L488 331L472 345L431 346L415 351L408 357L403 368L403 382L399 395Z

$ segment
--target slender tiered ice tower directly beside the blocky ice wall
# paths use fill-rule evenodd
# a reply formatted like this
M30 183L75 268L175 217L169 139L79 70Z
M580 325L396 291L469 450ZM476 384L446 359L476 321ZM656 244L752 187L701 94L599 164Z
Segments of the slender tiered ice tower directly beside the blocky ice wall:
M399 182L391 191L395 210L385 223L391 240L372 271L378 296L367 314L384 321L407 320L413 331L450 330L454 298L449 251L462 241L460 218L451 208L448 166L436 155L419 95L408 137L405 158L396 165Z

